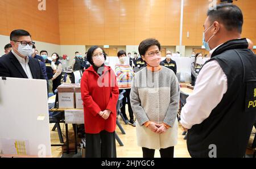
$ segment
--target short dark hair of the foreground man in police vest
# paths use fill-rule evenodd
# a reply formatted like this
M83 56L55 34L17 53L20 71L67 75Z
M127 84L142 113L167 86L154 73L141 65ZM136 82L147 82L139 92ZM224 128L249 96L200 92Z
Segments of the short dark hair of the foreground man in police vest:
M221 3L216 9L207 12L210 22L221 22L228 31L236 30L242 33L243 14L238 6L232 3Z

